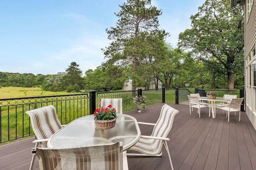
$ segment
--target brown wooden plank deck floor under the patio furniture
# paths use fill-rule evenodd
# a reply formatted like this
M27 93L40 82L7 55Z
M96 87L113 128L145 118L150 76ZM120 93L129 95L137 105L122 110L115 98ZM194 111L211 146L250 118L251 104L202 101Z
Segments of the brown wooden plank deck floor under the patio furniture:
M147 106L144 113L137 110L124 114L137 121L155 123L164 104ZM201 118L196 109L189 114L187 102L168 104L179 113L168 138L168 147L174 170L256 170L256 130L245 112L230 114L230 122L224 113L217 110L216 119L208 117L208 108L203 108ZM152 127L140 125L142 135L150 135ZM1 170L28 170L35 138L24 139L0 146ZM130 170L170 170L170 162L163 148L161 157L128 157ZM38 170L36 158L34 169Z

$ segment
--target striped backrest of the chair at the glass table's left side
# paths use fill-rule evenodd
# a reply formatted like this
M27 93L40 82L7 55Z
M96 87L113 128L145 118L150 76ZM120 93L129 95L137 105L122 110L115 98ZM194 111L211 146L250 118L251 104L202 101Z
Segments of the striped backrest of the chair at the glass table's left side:
M29 110L26 113L30 117L33 131L38 139L48 139L62 128L56 109L52 105ZM42 144L43 147L47 147L46 142Z

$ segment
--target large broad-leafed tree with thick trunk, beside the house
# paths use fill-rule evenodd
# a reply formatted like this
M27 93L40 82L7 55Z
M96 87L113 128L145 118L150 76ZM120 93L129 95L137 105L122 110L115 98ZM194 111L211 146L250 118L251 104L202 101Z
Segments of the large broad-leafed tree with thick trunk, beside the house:
M191 16L191 29L179 35L180 47L192 49L208 69L227 76L234 89L234 76L244 69L244 11L230 8L230 0L206 0ZM214 77L212 77L214 79Z

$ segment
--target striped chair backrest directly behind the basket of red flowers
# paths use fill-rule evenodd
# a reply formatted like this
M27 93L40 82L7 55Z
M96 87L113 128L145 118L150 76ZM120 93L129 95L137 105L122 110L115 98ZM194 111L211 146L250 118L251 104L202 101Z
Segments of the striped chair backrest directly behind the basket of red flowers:
M122 98L114 98L114 99L101 99L100 107L108 107L108 105L112 106L112 108L116 109L116 113L122 114L123 113L123 106L122 106Z

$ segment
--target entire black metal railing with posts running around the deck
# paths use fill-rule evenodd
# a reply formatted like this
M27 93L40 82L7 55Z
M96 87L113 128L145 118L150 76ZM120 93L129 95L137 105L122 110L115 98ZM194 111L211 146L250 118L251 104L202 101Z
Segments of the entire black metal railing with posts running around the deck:
M209 90L195 89L195 92L202 93ZM224 94L237 94L235 90L214 90L218 91L219 97ZM88 94L42 96L31 98L10 98L0 99L0 143L20 139L34 135L27 110L36 109L48 105L56 108L58 118L62 124L68 124L78 117L93 114L102 98L122 98L123 111L137 109L133 102L135 96L146 96L146 106L157 103L175 103L188 101L187 95L191 92L187 89L149 89L130 90L121 92L100 92L90 91ZM223 95L222 95L223 94ZM244 91L240 90L243 97Z

